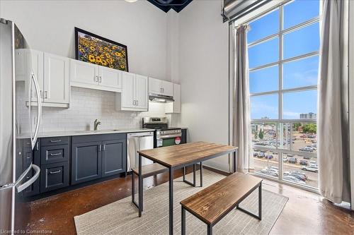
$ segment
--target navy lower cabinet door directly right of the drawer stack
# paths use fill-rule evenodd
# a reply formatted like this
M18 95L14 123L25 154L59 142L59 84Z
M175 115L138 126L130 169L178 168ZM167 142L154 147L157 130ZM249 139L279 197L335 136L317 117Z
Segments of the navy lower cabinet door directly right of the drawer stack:
M72 144L72 184L101 178L101 141Z

